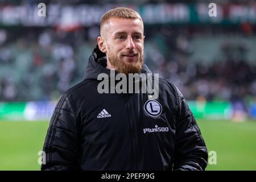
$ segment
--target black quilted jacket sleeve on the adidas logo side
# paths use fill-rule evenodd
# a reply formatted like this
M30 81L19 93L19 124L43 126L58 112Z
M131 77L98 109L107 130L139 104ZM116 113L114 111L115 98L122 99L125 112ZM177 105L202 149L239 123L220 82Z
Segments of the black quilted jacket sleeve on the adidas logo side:
M77 157L79 150L79 130L76 115L71 108L68 96L64 93L53 112L43 151L46 157L42 170L79 169Z

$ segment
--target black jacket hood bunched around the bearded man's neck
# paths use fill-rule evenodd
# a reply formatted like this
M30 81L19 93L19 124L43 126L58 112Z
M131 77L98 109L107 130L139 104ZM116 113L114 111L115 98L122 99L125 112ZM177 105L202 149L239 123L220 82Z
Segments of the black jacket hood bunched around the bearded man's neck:
M98 48L98 45L93 49L92 55L89 57L88 65L85 69L84 78L85 79L94 79L97 80L97 77L100 73L106 73L110 76L110 69L106 68L107 60L106 53L101 52ZM118 72L115 71L115 74ZM148 69L147 65L143 63L141 73L152 73Z

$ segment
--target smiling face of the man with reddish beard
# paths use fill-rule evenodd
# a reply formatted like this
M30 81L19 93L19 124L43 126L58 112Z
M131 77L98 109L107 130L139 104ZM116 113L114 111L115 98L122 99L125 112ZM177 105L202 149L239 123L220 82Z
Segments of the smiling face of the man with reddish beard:
M104 24L104 46L109 63L119 73L138 73L143 64L143 24L139 19L110 18Z

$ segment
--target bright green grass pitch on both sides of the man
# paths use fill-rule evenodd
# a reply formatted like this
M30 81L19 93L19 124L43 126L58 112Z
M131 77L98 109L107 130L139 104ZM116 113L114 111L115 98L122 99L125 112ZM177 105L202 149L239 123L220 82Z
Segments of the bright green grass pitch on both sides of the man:
M216 152L217 164L208 164L207 170L256 170L256 121L197 122L208 152ZM39 170L38 152L48 125L43 121L0 121L0 170Z

